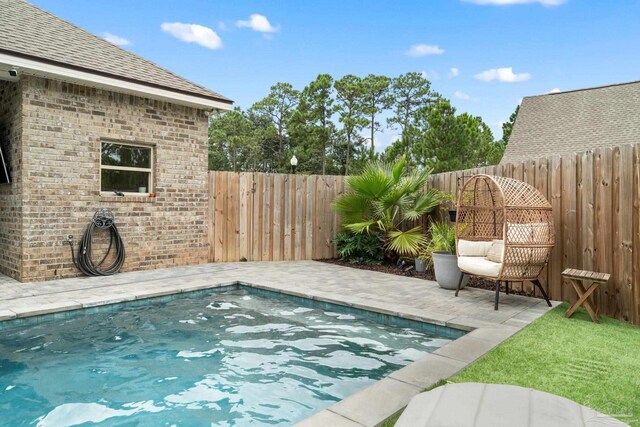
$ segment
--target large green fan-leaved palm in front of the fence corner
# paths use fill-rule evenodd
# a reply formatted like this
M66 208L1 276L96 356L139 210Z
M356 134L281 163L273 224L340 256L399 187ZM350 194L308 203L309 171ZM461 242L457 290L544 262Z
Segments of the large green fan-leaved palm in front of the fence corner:
M399 255L414 256L424 246L422 227L403 230L440 204L436 190L425 191L430 170L408 171L403 156L395 164L372 162L360 175L347 178L348 190L334 202L344 228L353 233L381 232L385 248Z

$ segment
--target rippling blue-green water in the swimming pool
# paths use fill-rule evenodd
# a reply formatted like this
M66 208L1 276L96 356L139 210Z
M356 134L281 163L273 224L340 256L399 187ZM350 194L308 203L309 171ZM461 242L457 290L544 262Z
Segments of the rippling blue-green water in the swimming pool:
M0 329L0 424L289 426L449 341L240 289L124 304Z

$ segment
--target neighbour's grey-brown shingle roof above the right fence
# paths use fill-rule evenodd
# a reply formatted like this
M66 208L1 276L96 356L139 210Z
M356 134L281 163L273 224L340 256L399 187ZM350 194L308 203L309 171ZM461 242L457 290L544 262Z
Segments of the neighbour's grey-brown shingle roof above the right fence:
M640 81L526 97L500 163L637 144Z

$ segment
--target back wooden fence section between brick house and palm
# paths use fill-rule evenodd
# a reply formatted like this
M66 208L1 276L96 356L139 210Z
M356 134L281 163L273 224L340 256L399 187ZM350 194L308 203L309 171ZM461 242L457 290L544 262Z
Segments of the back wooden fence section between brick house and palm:
M333 258L344 177L209 172L209 260Z

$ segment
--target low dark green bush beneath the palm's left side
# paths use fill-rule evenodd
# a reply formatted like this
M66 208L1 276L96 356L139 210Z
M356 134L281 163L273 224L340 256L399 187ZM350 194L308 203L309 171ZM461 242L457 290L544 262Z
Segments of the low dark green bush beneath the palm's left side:
M384 259L382 233L343 231L336 234L334 242L338 248L338 255L343 261L349 261L352 264L380 264Z

